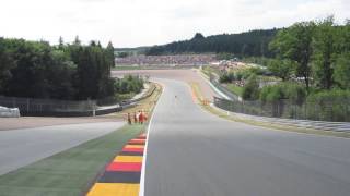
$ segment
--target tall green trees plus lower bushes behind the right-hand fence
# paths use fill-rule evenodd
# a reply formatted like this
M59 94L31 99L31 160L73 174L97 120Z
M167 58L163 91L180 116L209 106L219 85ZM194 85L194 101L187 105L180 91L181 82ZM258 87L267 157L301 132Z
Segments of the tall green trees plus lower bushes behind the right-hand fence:
M267 63L268 74L282 82L259 88L257 75L266 72L253 73L244 86L244 99L260 100L262 103L288 99L300 107L312 108L307 110L311 119L349 119L349 21L339 25L329 16L295 23L279 30L269 49L276 58Z

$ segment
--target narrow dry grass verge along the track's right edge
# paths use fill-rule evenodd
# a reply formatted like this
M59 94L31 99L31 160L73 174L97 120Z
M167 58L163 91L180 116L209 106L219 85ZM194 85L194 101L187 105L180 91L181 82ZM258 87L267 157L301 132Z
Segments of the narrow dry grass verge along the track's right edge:
M334 132L334 131L323 131L323 130L313 130L313 128L304 128L304 127L299 127L299 126L288 126L288 125L280 125L280 124L275 124L275 123L266 123L266 122L259 122L259 121L254 121L254 120L247 120L247 119L242 119L235 115L228 115L228 112L221 111L219 109L213 108L212 106L209 105L203 105L200 101L200 97L202 97L200 89L198 88L198 84L196 83L190 83L189 84L192 93L195 94L194 97L197 98L199 101L199 105L202 109L206 111L218 115L220 118L230 120L230 121L235 121L235 122L242 122L255 126L262 126L267 128L272 128L271 131L288 131L288 132L296 132L296 133L304 133L304 134L315 134L315 135L324 135L324 136L335 136L335 137L345 137L345 138L350 138L350 133L347 132Z

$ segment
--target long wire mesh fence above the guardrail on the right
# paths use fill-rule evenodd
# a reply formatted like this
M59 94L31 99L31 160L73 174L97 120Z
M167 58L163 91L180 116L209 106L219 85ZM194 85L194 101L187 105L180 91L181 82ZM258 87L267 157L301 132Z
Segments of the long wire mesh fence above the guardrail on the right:
M350 100L296 103L284 99L273 102L236 101L214 97L223 110L250 115L329 122L350 122Z

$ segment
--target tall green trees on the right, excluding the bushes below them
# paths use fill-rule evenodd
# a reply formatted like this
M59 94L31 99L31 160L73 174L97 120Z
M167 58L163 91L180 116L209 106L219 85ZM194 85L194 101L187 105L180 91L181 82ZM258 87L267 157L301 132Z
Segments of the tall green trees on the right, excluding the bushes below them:
M283 81L304 83L307 91L350 88L350 23L332 16L295 23L280 30L269 45L276 53L268 69Z

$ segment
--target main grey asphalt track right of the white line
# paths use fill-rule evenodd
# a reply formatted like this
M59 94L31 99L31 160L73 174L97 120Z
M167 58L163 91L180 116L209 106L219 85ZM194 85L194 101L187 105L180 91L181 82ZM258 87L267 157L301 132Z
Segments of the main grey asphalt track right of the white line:
M147 149L145 196L348 196L350 140L246 125L161 79ZM177 98L175 98L177 96Z

